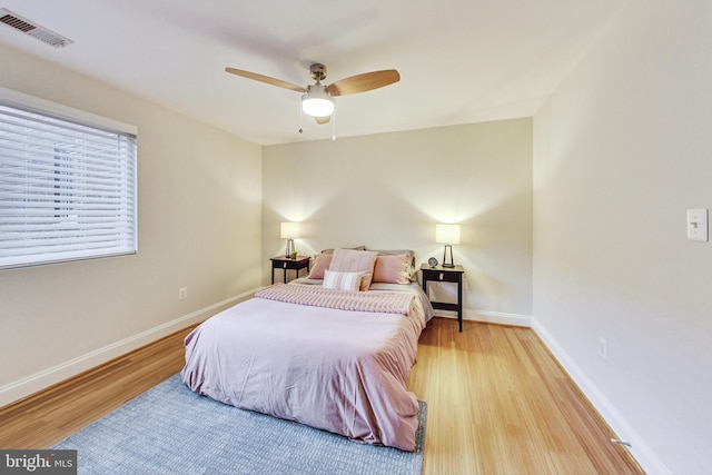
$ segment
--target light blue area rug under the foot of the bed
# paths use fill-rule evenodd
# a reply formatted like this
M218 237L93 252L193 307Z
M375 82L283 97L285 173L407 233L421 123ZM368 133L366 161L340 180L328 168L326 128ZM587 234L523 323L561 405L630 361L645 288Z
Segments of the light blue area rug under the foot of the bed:
M52 448L80 474L421 474L427 406L414 452L346 437L192 393L171 376Z

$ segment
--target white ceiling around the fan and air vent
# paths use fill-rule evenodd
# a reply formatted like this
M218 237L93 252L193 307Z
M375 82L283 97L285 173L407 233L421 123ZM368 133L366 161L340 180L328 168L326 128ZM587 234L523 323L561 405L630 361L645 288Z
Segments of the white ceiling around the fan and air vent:
M332 137L300 86L395 68L400 81L336 99L338 137L534 115L626 0L0 0L73 43L0 24L0 44L260 145ZM2 66L0 65L0 71Z

